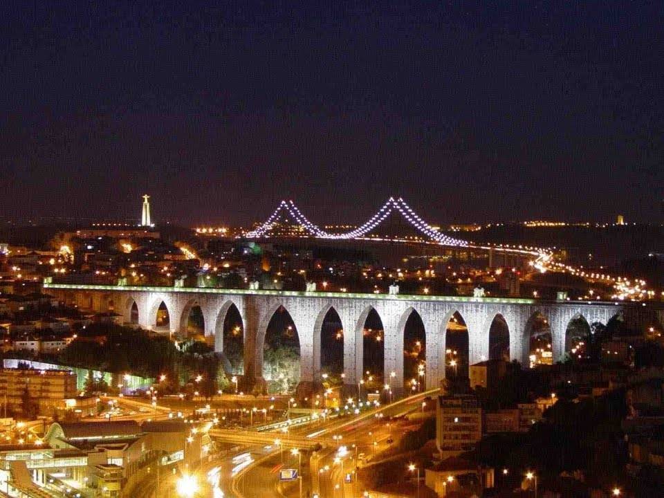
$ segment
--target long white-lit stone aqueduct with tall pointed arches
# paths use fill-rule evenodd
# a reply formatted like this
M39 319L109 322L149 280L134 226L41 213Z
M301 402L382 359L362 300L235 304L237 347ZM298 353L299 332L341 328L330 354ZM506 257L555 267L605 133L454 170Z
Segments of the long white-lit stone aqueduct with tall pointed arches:
M291 315L300 344L300 381L317 385L321 380L321 331L326 313L334 308L344 330L344 382L356 386L362 377L362 330L373 308L384 328L385 372L396 373L394 386L403 386L403 343L406 321L418 313L426 337L426 383L438 387L445 378L445 331L458 312L468 327L470 364L489 358L489 329L501 315L509 330L510 357L528 364L529 327L541 313L551 328L553 361L564 356L569 322L582 316L588 324L607 322L615 315L636 327L661 324L664 309L643 303L551 302L535 299L446 297L433 295L376 295L355 293L247 291L220 288L85 286L44 284L45 292L93 311L115 310L131 321L133 303L138 324L156 329L163 302L169 312L169 332L185 329L192 307L200 306L205 335L214 335L215 351L223 351L223 322L231 305L243 324L246 385L263 382L264 340L271 317L279 306Z

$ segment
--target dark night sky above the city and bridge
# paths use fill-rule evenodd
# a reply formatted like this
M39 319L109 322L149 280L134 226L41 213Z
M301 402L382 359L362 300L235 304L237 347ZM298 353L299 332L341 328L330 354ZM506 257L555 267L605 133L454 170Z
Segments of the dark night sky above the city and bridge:
M0 216L662 219L664 2L288 3L0 2Z

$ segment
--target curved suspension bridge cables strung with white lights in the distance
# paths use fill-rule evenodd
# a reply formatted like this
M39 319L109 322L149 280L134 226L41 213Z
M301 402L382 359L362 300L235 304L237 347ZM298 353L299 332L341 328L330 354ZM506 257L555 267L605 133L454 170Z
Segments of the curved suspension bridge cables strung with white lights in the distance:
M393 197L390 197L387 202L382 205L378 212L376 212L374 216L371 216L371 218L365 221L365 223L362 223L362 225L360 225L358 228L354 228L349 232L343 233L330 233L322 230L322 228L320 228L315 223L311 223L311 221L309 221L307 217L304 216L304 214L302 214L302 212L297 208L297 205L295 205L293 201L281 201L275 212L273 212L273 214L271 214L270 217L264 221L264 223L261 223L258 228L248 232L246 237L250 239L266 237L268 232L273 228L277 219L279 219L279 214L282 214L283 212L293 221L295 221L295 223L302 226L302 228L304 228L304 230L306 230L309 234L313 235L313 237L319 237L321 239L359 239L371 232L371 230L374 230L376 227L378 227L378 225L385 221L387 216L389 216L389 214L391 214L393 211L398 211L399 214L401 214L401 216L403 216L403 218L408 221L408 223L410 223L410 225L418 230L418 232L421 232L421 234L444 246L467 247L469 245L467 241L454 239L438 232L437 230L434 230L431 225L421 219L421 217L418 216L412 210L412 208L410 208L410 206L400 197L396 200Z

